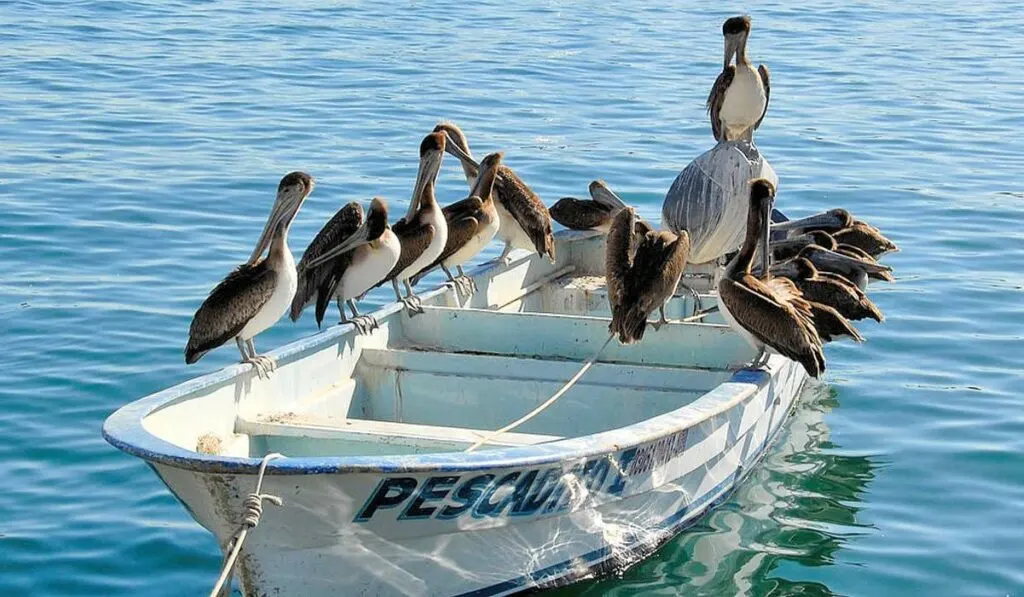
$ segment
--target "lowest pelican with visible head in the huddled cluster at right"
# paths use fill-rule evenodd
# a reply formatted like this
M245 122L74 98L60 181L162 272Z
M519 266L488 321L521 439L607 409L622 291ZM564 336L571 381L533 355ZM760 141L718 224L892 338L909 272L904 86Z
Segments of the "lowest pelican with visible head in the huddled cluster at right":
M885 321L879 307L856 285L837 273L818 271L804 257L773 263L769 270L772 275L792 280L805 299L828 305L847 319Z

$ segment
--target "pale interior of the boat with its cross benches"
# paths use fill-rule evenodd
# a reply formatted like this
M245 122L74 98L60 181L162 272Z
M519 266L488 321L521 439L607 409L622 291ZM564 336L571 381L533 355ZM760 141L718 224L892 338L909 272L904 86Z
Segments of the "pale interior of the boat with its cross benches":
M414 316L385 306L369 335L335 327L274 351L269 379L238 366L234 375L171 388L178 395L142 424L181 449L219 456L464 451L544 402L608 338L604 237L558 239L554 264L525 254L486 264L470 272L477 290L469 299L445 287L424 293L424 312ZM684 278L696 292L680 286L666 309L670 324L648 328L638 344L611 341L560 400L481 450L624 427L727 381L751 348L717 312L678 322L715 305L709 271Z

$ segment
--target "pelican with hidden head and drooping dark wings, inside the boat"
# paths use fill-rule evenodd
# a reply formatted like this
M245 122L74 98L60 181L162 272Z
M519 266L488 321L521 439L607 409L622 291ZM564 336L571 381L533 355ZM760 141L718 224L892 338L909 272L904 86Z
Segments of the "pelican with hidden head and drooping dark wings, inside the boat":
M632 246L636 244L636 251ZM611 222L605 252L605 279L611 325L608 331L618 335L623 344L643 339L647 316L657 309L659 329L667 324L665 303L672 298L686 267L690 237L682 230L677 237L655 231L649 225L637 226L636 210L626 207Z

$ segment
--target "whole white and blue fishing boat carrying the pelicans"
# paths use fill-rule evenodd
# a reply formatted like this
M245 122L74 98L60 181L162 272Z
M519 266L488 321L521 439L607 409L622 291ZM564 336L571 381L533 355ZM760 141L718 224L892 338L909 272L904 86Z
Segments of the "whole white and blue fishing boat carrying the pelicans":
M764 455L806 374L755 354L718 313L612 342L604 237L558 234L558 261L513 253L400 304L359 336L336 326L270 353L269 379L232 366L108 419L228 546L254 491L280 497L237 564L246 595L484 596L571 583L636 561L713 508ZM709 270L705 269L705 273ZM696 273L700 273L697 271ZM708 276L685 278L703 307ZM670 319L689 315L679 293ZM211 574L214 570L211 570Z

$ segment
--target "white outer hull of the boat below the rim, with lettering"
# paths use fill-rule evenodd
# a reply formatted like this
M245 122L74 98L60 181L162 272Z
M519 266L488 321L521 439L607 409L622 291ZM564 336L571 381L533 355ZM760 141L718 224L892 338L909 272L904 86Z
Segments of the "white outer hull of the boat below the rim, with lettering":
M285 505L265 510L238 577L247 595L484 596L622 569L729 494L805 379L772 357L723 384L732 391L703 404L706 418L670 413L642 441L608 437L578 455L539 445L514 465L270 474L263 491ZM226 545L255 475L154 468Z

